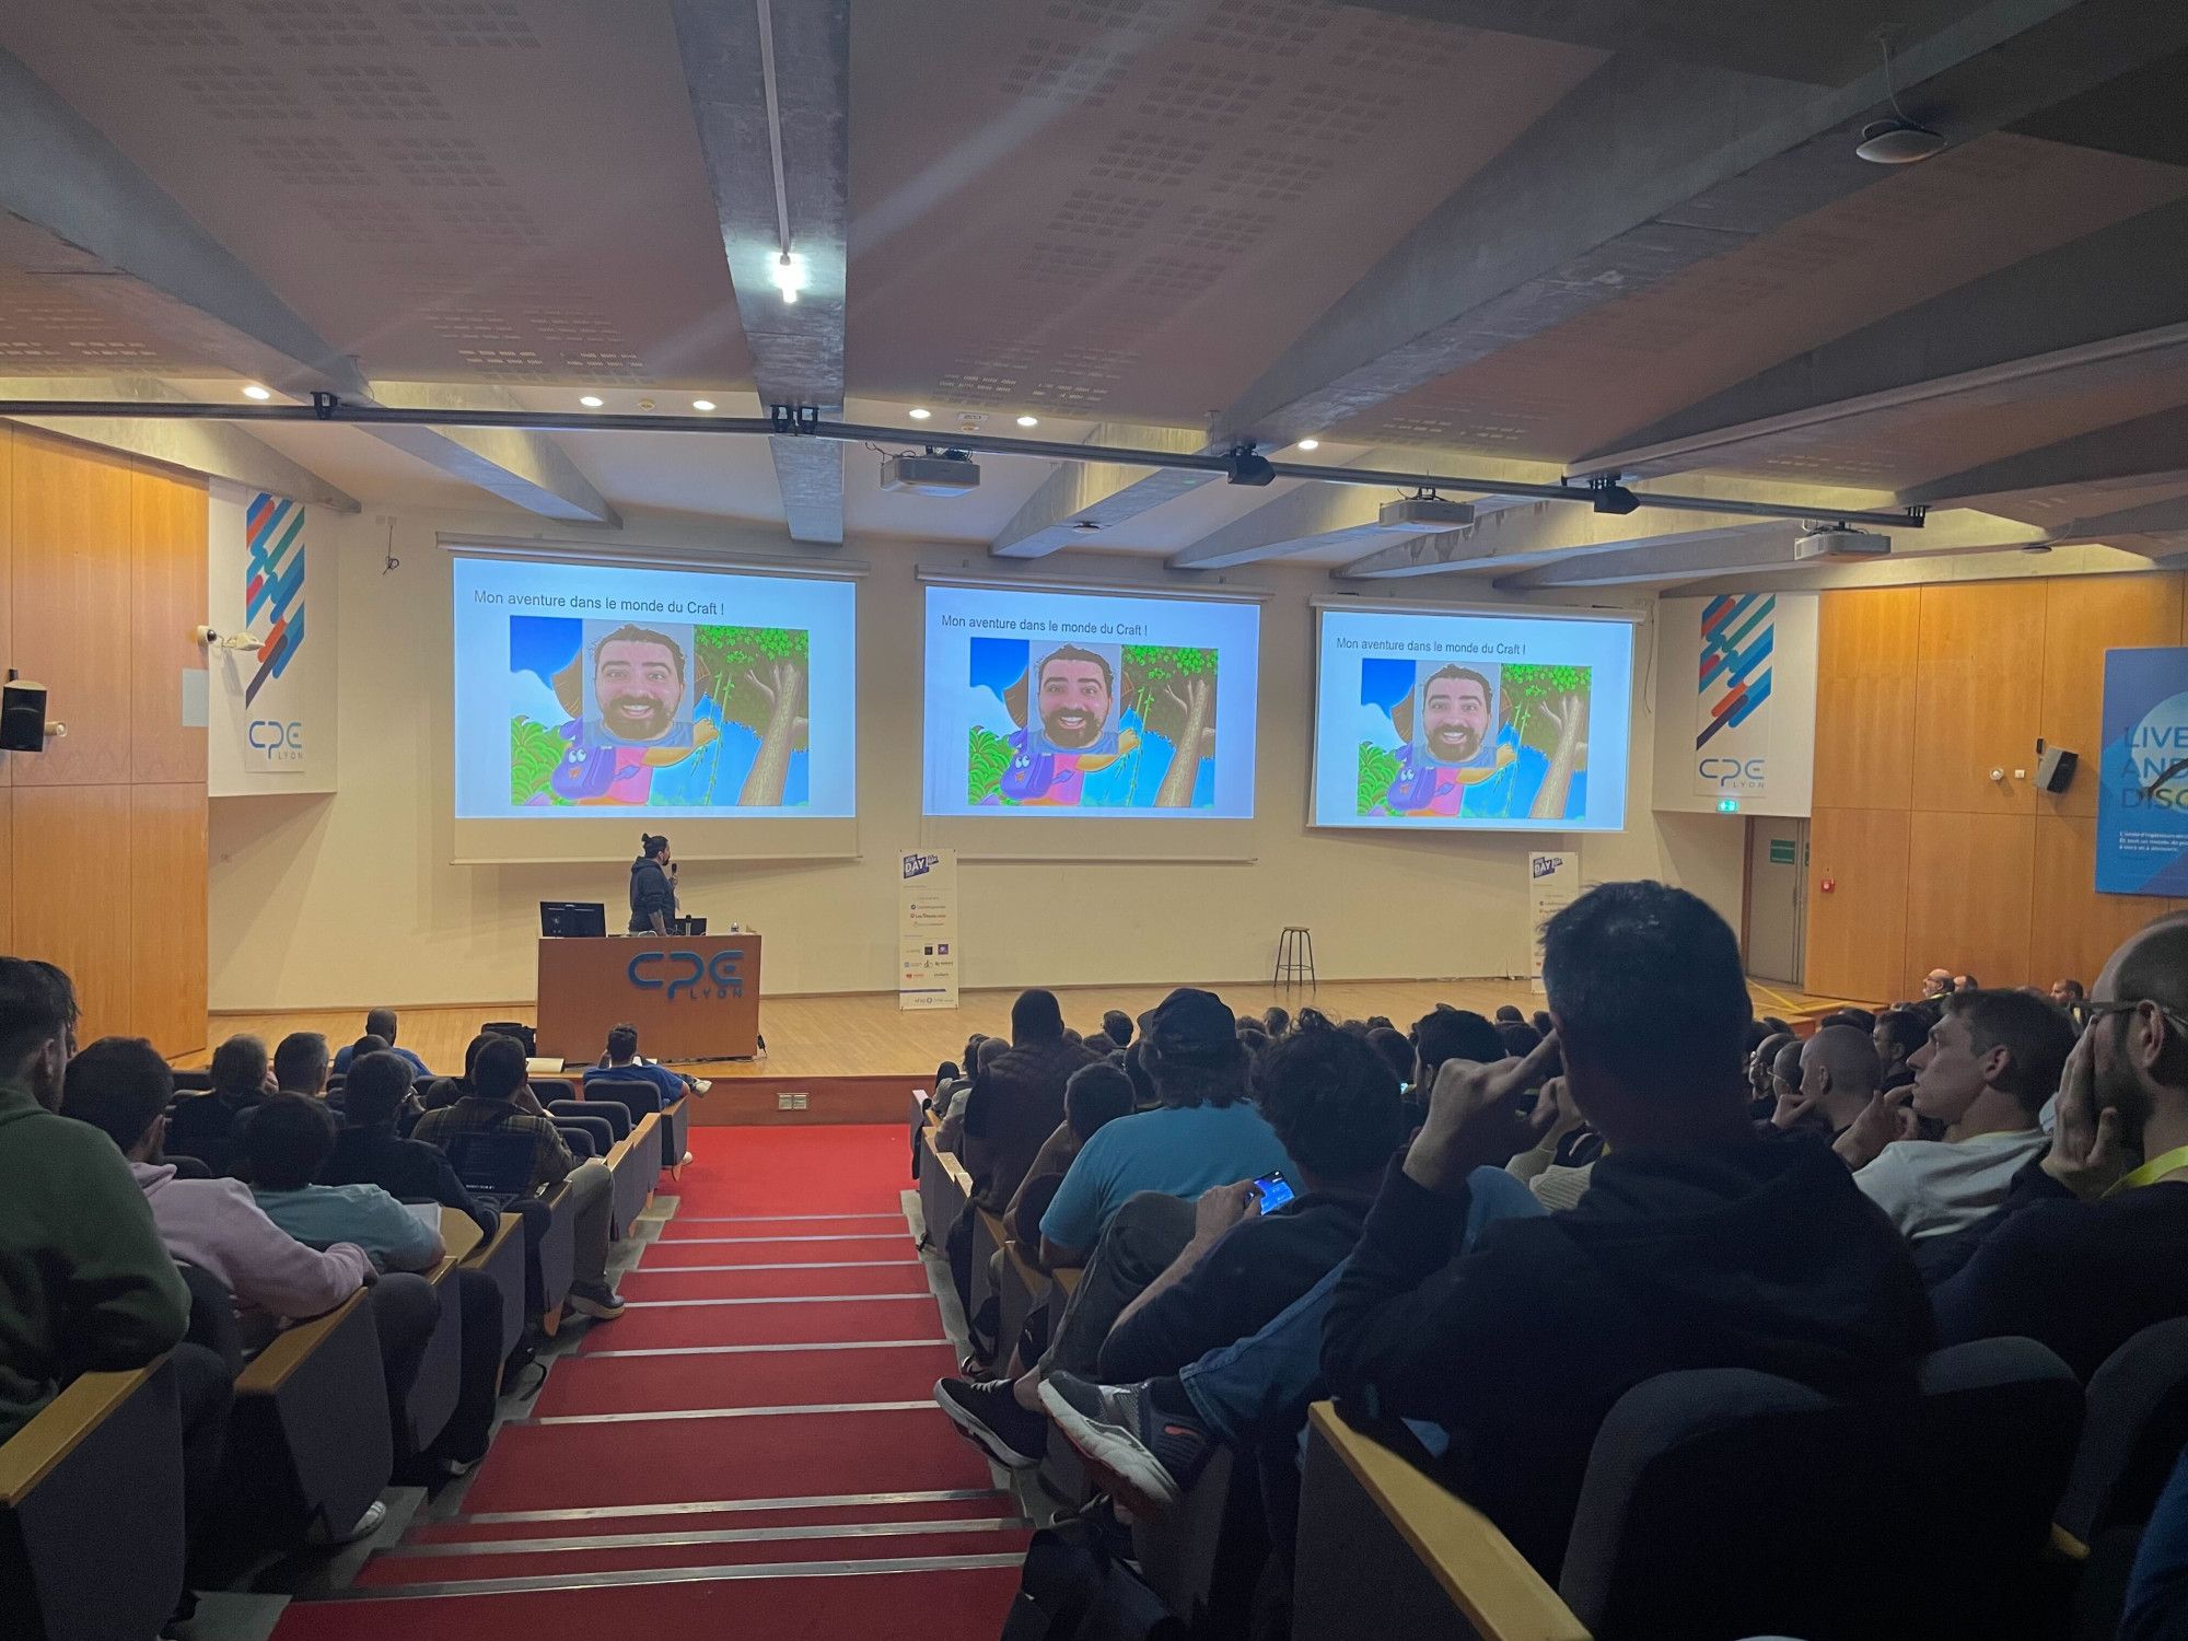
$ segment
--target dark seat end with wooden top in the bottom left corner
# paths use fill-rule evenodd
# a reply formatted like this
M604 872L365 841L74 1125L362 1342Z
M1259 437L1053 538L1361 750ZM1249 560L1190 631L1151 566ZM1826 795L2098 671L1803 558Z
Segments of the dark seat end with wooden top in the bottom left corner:
M175 1370L83 1374L0 1444L0 1632L151 1637L182 1575Z

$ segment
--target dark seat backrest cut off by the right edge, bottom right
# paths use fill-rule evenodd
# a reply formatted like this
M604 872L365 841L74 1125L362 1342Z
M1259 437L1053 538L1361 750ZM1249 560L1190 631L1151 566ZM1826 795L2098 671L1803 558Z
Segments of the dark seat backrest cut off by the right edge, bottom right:
M2059 1525L2085 1545L2149 1521L2173 1455L2188 1444L2188 1317L2144 1328L2090 1374L2090 1413Z

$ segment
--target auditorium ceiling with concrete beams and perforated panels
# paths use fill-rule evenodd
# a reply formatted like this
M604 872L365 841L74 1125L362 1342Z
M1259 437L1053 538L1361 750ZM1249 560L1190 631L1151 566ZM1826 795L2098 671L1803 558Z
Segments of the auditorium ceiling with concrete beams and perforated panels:
M2168 560L2184 68L2188 9L2135 0L13 0L0 398L799 403L904 446L1479 479L1494 527L1424 554L1363 536L1389 492L1033 455L954 499L860 444L639 431L238 424L217 457L333 505L1409 591L1871 573L1794 571L1788 523L1702 560L1665 554L1685 512L1575 532L1497 479ZM1862 162L1886 118L1941 151Z

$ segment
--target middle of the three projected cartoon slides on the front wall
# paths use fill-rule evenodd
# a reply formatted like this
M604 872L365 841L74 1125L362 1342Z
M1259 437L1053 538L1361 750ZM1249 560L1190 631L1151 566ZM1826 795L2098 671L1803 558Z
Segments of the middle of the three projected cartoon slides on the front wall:
M926 812L1254 814L1260 608L928 586Z

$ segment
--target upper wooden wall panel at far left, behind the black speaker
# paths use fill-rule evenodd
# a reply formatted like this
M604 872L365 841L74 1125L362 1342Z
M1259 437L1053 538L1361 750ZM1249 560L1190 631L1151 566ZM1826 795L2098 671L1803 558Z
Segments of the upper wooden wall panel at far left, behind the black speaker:
M15 429L13 654L68 737L15 785L129 781L129 462ZM18 814L18 821L24 818Z

